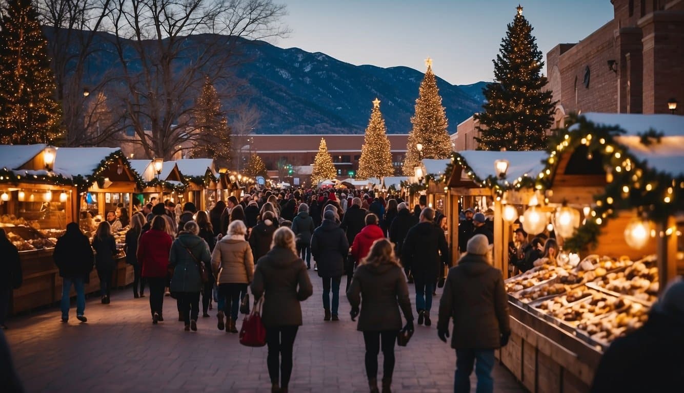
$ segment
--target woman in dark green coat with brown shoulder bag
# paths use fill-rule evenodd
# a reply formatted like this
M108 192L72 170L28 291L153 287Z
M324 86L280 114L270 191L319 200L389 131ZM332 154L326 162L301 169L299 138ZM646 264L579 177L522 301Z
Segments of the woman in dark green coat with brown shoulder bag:
M174 240L169 254L169 267L173 269L170 290L180 300L186 332L191 329L193 332L197 331L200 291L204 287L200 270L211 262L209 245L198 236L198 233L200 227L196 222L186 222L183 231L180 231Z

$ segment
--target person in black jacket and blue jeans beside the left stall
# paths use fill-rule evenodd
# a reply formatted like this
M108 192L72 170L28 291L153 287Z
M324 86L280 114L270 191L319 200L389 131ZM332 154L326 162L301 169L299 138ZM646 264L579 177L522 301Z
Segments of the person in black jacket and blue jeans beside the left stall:
M88 319L86 312L85 284L90 282L90 272L93 267L93 253L88 237L83 235L79 224L66 224L66 232L57 239L53 259L62 277L62 322L69 320L70 291L73 285L76 291L76 318L81 322Z

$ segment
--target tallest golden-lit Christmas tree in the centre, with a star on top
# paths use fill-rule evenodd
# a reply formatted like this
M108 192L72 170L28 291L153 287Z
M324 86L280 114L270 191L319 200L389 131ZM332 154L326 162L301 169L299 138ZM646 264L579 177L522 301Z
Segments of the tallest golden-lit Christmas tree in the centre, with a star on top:
M411 117L413 128L408 135L406 158L404 159L404 175L412 176L413 170L420 164L421 158L449 158L451 156L451 139L447 132L447 115L442 106L442 97L437 88L437 79L432 73L432 59L425 60L428 70L425 72L419 96L416 100L415 115ZM421 152L417 144L423 145Z

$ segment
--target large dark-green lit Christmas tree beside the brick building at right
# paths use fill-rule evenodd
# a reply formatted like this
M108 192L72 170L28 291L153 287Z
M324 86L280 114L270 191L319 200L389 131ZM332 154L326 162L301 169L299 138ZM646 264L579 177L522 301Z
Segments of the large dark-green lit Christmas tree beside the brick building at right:
M493 83L483 89L487 103L475 115L481 136L475 138L482 150L540 150L547 147L547 133L553 122L551 91L542 91L542 52L537 48L532 27L518 5L513 24L501 43L494 63Z

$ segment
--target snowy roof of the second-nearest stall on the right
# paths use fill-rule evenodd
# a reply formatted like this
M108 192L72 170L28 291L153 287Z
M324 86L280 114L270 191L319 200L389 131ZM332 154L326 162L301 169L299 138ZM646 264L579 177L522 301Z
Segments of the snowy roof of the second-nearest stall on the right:
M511 182L518 179L518 177L531 177L534 179L544 170L542 160L549 157L546 151L464 150L458 154L466 160L475 176L481 180L497 176L497 171L494 167L496 160L508 160L506 179L511 179L509 180Z

